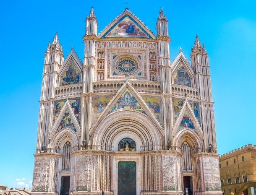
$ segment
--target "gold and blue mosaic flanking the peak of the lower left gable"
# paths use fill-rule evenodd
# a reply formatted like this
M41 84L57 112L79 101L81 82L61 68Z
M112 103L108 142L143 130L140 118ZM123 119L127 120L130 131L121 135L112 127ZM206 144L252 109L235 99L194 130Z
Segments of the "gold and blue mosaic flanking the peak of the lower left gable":
M60 115L60 111L62 110L64 104L66 103L67 99L61 99L54 101L54 113L53 113L53 122L57 120L58 116ZM78 124L80 124L81 118L81 98L71 98L68 99L69 104L71 105L72 111L78 120Z

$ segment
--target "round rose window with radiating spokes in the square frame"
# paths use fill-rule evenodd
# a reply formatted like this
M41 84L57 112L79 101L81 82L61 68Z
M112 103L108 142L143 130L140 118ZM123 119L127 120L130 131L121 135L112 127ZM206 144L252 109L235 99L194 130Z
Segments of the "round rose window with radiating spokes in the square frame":
M130 57L123 57L115 63L115 69L119 73L130 75L138 70L138 62Z

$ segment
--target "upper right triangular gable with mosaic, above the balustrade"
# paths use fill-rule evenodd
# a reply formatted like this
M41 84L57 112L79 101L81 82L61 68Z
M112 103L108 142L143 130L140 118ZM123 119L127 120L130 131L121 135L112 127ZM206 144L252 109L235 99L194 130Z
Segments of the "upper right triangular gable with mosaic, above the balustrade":
M172 62L172 83L192 87L194 72L182 52Z

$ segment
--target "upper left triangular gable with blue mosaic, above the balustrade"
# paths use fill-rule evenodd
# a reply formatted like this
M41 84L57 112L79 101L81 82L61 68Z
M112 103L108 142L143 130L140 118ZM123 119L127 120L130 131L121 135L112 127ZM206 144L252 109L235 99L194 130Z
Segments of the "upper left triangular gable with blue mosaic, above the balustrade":
M82 63L73 49L68 54L68 57L63 62L60 68L60 86L77 84L82 81Z

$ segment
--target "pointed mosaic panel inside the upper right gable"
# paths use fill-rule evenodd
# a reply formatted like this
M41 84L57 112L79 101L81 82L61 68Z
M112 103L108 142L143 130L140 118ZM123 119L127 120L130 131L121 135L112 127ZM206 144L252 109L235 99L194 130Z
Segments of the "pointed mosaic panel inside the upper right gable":
M174 73L174 84L191 87L191 78L183 64L180 64L178 70Z

